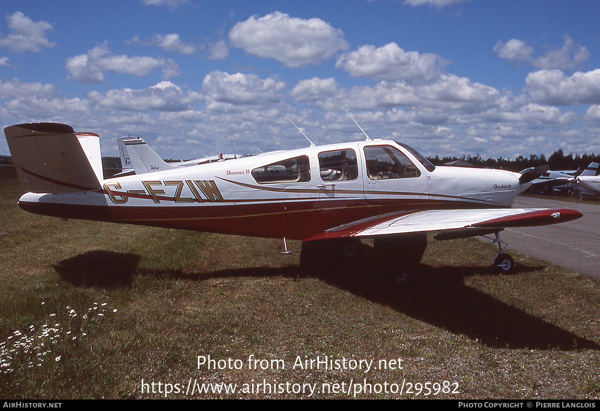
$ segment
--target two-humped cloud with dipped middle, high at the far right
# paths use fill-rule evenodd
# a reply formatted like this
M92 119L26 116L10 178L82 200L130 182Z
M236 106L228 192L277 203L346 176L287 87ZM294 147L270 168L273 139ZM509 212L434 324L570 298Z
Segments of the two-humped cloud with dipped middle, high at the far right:
M516 38L506 43L498 41L494 46L494 53L511 63L522 61L542 69L573 69L590 57L586 47L575 43L569 35L565 35L565 43L559 50L548 50L538 58L533 57L533 47Z

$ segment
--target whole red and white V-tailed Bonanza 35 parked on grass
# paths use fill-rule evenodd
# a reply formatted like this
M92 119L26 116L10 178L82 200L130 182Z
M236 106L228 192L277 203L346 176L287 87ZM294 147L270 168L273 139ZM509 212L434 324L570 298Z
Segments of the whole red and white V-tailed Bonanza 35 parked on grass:
M582 216L568 208L510 208L541 174L535 170L436 167L406 144L372 140L366 133L364 141L311 142L304 149L205 164L167 164L143 140L125 137L119 146L133 164L127 166L130 175L104 179L97 134L56 123L14 125L4 132L26 191L19 200L23 210L282 238L285 252L286 238L333 241L341 255L352 257L359 239L373 238L375 248L395 247L394 255L418 263L428 233L439 240L495 234L494 265L508 271L514 262L500 240L504 228Z

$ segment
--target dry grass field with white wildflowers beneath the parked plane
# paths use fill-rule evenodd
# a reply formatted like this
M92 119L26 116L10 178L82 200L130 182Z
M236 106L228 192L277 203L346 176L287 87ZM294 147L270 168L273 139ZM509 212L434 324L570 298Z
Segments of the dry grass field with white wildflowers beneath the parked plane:
M597 280L497 275L477 240L430 240L403 286L368 244L301 270L297 242L28 214L0 173L2 398L600 396Z

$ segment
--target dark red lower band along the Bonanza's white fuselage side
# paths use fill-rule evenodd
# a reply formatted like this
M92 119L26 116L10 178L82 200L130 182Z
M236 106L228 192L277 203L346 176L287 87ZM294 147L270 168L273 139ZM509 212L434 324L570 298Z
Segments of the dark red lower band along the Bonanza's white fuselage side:
M254 237L304 240L326 229L403 210L427 208L426 200L278 201L259 204L75 205L19 201L23 210L62 218L191 229ZM285 208L285 209L284 209Z

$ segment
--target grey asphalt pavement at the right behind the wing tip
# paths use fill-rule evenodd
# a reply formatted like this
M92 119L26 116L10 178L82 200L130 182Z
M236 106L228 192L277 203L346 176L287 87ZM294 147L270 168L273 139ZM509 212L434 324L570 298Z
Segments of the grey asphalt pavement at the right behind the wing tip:
M567 223L507 228L500 238L508 243L508 249L600 278L600 205L519 196L512 207L581 211L583 217Z

